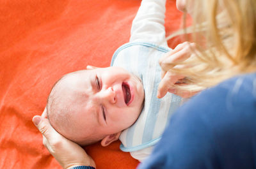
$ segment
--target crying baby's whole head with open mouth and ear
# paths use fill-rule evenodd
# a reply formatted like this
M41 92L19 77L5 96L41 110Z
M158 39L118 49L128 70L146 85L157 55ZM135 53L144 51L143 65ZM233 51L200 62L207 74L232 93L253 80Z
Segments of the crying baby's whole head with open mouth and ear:
M48 98L47 117L61 135L80 145L118 139L143 108L140 79L119 67L95 68L68 73Z

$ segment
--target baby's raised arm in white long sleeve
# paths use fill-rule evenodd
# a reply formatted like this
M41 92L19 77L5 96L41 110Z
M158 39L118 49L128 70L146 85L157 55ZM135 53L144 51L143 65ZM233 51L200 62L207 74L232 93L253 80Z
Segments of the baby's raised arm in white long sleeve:
M164 13L166 0L143 0L132 22L130 42L148 41L167 46Z

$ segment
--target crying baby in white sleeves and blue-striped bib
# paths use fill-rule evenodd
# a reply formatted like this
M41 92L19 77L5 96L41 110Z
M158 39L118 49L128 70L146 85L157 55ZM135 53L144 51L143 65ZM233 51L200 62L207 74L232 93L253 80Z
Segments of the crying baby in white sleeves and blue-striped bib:
M69 73L52 88L47 117L66 138L101 145L120 138L122 151L142 161L161 138L181 98L157 99L158 60L168 48L164 30L166 0L143 0L132 22L129 43L116 50L111 67Z

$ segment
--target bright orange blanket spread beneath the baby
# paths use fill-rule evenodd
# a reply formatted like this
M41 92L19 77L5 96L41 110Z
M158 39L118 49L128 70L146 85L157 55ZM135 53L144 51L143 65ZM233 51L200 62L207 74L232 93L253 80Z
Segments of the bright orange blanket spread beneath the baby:
M140 2L0 0L0 168L61 168L31 119L42 114L62 75L88 64L109 66L129 40ZM180 27L180 16L175 1L167 0L168 34ZM119 145L85 149L98 169L136 168L138 161Z

